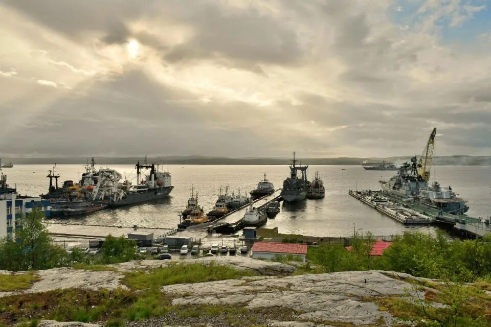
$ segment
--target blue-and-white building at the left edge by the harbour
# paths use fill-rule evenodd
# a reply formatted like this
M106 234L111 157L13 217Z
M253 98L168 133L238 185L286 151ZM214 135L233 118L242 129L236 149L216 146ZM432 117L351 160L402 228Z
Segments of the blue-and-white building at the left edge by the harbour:
M15 239L15 231L20 226L20 214L28 215L33 207L50 215L50 201L40 197L17 194L16 186L12 189L7 184L7 175L0 174L0 238Z

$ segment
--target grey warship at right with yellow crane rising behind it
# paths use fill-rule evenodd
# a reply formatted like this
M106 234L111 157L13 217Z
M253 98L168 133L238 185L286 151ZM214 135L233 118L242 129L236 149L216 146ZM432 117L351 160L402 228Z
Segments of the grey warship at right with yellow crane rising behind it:
M388 181L379 181L383 193L403 200L417 201L421 204L438 209L438 211L464 214L469 207L466 201L453 192L451 186L441 188L437 181L431 185L431 162L435 144L436 128L433 129L428 143L419 160L411 158L411 164L405 162Z

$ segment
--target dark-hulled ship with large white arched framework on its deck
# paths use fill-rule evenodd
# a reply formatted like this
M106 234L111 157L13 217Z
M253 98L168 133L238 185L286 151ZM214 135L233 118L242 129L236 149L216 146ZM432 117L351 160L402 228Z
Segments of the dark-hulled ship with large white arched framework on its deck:
M169 172L159 171L159 166L155 164L143 165L140 161L135 165L137 170L137 184L125 180L120 183L122 176L114 169L99 170L99 178L94 188L94 201L107 204L110 207L135 204L145 201L165 198L172 191L171 176ZM157 166L157 167L156 167ZM141 170L150 170L150 173L141 179Z

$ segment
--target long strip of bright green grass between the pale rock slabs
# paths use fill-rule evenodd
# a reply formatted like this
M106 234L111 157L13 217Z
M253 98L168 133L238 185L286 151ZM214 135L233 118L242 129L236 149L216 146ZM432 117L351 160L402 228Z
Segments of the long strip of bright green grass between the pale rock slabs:
M228 266L204 264L172 264L151 272L135 271L123 278L123 283L132 290L155 289L165 285L201 283L255 276L251 271L237 270Z

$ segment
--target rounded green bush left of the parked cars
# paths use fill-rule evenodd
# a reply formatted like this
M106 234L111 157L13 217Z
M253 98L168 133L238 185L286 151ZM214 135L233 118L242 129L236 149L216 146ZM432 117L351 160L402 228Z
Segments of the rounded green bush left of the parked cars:
M124 237L108 235L102 244L102 258L106 264L116 264L134 260L137 255L137 242Z

